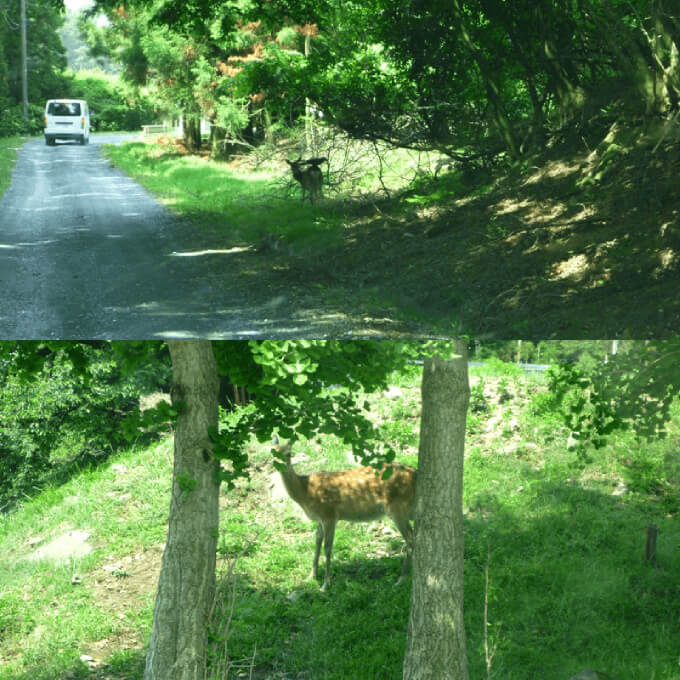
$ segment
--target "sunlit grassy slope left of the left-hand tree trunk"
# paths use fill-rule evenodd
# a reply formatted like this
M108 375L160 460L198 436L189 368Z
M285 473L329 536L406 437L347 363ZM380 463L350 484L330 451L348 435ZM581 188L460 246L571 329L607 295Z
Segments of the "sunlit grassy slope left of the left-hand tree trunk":
M104 596L109 572L102 566L145 551L160 554L170 457L167 445L129 451L0 517L2 680L61 678L66 669L82 673L85 649L148 627L153 593L114 615ZM91 534L89 555L56 565L28 559L35 550L31 539L43 538L44 544L73 529Z

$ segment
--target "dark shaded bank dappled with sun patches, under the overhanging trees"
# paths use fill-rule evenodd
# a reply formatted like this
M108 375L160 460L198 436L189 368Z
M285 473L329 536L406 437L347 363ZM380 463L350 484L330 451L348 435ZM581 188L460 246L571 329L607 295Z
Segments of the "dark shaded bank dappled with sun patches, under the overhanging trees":
M463 192L455 179L451 198L430 205L427 194L445 194L451 183L442 178L423 197L359 220L341 247L283 273L369 289L478 335L675 334L677 154L659 149L650 163L649 149L631 150L597 184L583 181L583 158L564 156Z

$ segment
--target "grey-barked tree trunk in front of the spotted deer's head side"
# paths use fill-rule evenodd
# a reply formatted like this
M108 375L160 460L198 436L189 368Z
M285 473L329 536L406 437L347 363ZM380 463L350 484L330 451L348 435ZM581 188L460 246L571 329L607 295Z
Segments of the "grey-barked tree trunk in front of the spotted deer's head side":
M219 380L208 341L170 341L173 403L180 413L168 538L144 680L204 677L206 621L215 594L219 480L212 455Z

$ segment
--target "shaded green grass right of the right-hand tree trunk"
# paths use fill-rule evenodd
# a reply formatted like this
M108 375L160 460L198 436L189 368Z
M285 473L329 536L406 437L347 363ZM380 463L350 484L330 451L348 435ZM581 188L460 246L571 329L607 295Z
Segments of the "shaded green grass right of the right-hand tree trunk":
M518 493L530 496L528 523L514 494L489 496L466 521L471 677L485 671L487 563L494 677L566 680L584 668L618 680L675 677L680 620L668 612L680 607L676 523L659 516L661 507L576 484L537 478ZM656 565L643 560L651 521L665 537Z

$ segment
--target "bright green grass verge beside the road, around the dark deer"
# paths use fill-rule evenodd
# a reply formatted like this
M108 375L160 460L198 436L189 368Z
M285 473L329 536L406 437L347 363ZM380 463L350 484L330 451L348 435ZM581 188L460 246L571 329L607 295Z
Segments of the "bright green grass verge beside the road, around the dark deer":
M352 147L360 158L362 148L360 143ZM334 188L334 198L311 205L301 201L300 186L282 162L270 160L253 169L250 160L241 167L184 155L158 140L104 145L103 151L168 208L194 224L217 229L239 244L275 238L297 253L319 253L342 245L346 229L361 219L365 208L360 199L347 202L350 192L377 192L382 187L398 191L417 175L418 162L424 167L433 162L433 154L391 150L384 152L389 162L379 171L369 154L357 161L362 168L359 176ZM368 152L364 149L363 153ZM371 195L374 206L375 194Z

